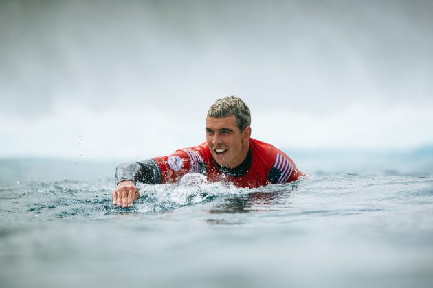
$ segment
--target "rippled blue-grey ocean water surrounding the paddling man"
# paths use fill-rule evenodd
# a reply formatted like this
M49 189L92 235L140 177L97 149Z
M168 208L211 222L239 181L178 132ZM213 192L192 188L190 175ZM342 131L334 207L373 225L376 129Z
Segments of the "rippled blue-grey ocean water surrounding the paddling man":
M293 156L294 155L294 156ZM140 185L116 163L0 160L0 287L433 287L433 153L293 153L259 189Z

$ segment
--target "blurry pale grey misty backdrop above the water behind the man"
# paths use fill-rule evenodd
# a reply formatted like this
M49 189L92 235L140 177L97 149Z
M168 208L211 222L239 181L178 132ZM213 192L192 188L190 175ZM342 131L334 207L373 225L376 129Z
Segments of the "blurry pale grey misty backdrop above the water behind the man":
M289 156L433 144L433 1L0 1L0 157L141 160L216 99ZM427 147L427 148L426 148ZM302 167L298 163L298 167Z

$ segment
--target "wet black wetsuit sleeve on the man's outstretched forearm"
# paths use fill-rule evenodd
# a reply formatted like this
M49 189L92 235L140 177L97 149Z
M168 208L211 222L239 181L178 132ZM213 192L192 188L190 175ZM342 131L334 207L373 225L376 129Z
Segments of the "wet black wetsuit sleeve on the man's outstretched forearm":
M152 159L122 163L115 168L115 184L126 180L159 184L162 182L161 169Z

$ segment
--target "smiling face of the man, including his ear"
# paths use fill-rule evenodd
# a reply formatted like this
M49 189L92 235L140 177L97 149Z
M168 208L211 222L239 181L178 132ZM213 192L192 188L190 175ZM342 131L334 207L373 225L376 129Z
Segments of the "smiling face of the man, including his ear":
M206 141L212 157L221 166L234 168L247 157L251 128L238 128L236 117L206 118Z

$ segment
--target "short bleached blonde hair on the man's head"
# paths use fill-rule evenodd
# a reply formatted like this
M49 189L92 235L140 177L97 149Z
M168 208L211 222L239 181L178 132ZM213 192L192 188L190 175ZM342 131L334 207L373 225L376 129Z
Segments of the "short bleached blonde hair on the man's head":
M216 100L208 111L208 117L223 118L223 117L236 117L238 128L243 131L251 125L251 113L249 108L241 98L228 96Z

